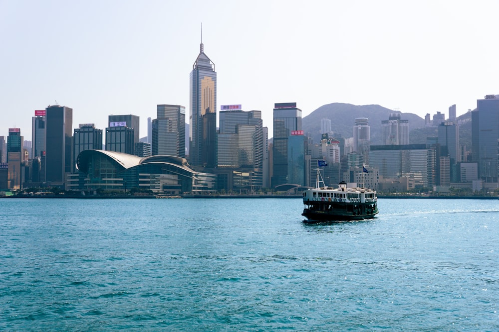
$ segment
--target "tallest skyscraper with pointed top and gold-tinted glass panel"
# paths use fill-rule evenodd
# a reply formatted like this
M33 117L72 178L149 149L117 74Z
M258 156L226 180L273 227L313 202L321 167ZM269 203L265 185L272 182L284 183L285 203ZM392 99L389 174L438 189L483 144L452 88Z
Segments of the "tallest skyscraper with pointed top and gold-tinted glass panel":
M190 150L192 166L214 167L217 158L217 73L203 42L190 74Z

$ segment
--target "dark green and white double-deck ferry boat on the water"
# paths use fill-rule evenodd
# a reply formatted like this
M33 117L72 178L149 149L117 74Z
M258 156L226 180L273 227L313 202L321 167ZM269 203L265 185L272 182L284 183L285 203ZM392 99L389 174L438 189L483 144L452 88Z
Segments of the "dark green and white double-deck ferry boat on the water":
M340 182L335 189L326 187L317 169L315 188L303 192L301 215L308 219L304 222L372 219L378 214L377 202L375 190L358 188L355 183L347 187Z

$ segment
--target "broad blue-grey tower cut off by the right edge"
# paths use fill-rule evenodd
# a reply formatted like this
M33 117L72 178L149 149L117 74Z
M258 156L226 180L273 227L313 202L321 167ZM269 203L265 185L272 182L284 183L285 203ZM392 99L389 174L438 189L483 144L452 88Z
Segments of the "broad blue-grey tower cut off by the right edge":
M498 119L499 95L477 100L477 110L472 112L472 158L485 182L498 182Z

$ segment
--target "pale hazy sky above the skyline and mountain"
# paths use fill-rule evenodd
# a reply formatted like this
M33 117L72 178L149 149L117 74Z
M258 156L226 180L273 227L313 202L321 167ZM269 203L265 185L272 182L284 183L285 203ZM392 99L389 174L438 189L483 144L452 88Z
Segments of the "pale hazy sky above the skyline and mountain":
M188 120L201 23L217 112L261 110L270 137L274 103L460 115L499 94L498 17L497 0L0 0L0 135L29 140L34 110L56 102L73 127L139 115L141 137L158 104Z

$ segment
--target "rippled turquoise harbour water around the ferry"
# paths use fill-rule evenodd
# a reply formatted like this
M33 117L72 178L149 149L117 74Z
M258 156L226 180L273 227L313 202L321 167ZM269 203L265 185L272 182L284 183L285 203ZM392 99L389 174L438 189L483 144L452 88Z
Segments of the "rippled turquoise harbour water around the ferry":
M0 200L1 331L499 331L499 201Z

